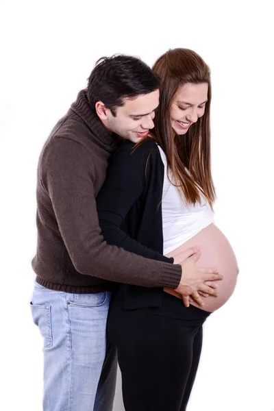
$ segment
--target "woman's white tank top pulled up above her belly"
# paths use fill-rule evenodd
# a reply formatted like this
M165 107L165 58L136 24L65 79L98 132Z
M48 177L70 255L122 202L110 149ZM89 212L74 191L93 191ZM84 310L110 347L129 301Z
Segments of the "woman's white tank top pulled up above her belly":
M164 186L162 194L162 223L164 235L164 255L177 249L184 242L214 222L214 214L208 201L202 197L195 206L185 203L177 187L167 176L166 155L158 146L164 163ZM171 172L169 174L171 176ZM171 181L174 181L171 178Z

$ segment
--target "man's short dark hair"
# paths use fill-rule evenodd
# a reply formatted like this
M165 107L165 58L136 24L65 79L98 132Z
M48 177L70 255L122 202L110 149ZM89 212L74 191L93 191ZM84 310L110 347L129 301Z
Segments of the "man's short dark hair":
M86 93L91 108L103 101L115 116L125 97L134 98L157 90L160 79L147 64L131 55L100 58L88 77Z

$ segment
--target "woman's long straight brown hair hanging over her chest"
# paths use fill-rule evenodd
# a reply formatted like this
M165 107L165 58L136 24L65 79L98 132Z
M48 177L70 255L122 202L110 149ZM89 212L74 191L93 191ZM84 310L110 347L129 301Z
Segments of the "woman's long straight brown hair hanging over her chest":
M210 162L210 69L195 51L173 49L161 55L152 70L160 77L161 88L155 128L148 138L162 147L168 169L186 202L195 204L201 201L202 194L212 208L216 194ZM192 124L184 136L178 136L171 127L171 103L178 88L186 83L207 83L208 102L197 123Z

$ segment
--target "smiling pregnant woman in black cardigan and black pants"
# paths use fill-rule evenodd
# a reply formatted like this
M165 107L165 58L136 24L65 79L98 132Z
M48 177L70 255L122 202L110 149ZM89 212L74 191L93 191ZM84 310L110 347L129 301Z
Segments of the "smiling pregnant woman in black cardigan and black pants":
M194 51L174 49L153 71L162 82L155 129L137 146L124 142L114 154L98 198L102 234L128 251L153 258L152 249L175 262L198 244L197 265L216 266L223 280L217 297L202 293L203 310L193 299L186 308L168 288L121 285L108 333L118 349L125 410L184 411L199 364L202 325L232 295L238 266L213 221L208 66Z

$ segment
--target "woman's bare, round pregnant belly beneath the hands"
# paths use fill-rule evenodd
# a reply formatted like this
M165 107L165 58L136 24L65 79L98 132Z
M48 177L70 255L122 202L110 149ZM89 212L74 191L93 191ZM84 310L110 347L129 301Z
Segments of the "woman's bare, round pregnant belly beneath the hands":
M219 273L223 275L223 279L216 282L218 284L218 297L201 297L205 303L202 309L213 312L223 306L234 291L238 275L236 256L225 235L214 224L202 229L196 236L184 242L167 256L174 258L177 254L194 245L201 247L201 257L196 263L197 266L219 269ZM171 288L164 288L164 291L182 298ZM195 302L192 305L201 308Z

